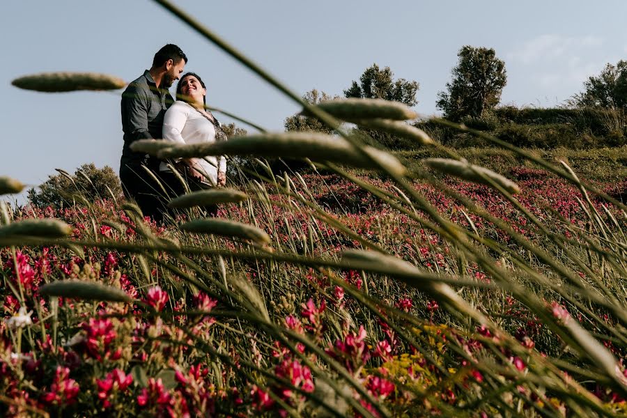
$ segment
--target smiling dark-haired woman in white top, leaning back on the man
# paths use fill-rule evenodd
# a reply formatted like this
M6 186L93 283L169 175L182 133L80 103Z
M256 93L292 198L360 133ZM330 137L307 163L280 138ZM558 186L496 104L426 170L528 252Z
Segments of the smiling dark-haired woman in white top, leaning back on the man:
M194 72L187 72L176 86L177 101L164 116L163 138L177 144L198 144L226 141L220 123L205 109L207 89L203 80ZM190 189L201 189L226 184L226 158L208 156L180 160L176 166L186 177ZM160 165L160 175L177 194L183 194L183 186L171 173L166 162Z

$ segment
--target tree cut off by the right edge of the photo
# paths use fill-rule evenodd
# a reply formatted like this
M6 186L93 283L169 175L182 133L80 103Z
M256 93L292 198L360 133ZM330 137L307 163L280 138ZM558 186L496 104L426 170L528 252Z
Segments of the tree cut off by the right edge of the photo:
M598 76L592 76L584 83L585 91L579 93L569 104L574 107L603 107L605 109L625 109L627 107L627 61L617 65L607 63Z

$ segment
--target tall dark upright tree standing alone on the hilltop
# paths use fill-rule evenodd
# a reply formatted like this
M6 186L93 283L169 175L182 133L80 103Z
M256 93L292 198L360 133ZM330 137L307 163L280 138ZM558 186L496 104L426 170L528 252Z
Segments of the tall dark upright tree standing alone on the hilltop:
M459 121L464 116L481 118L501 100L507 82L505 63L494 49L466 45L459 50L447 91L438 93L438 109L444 117Z

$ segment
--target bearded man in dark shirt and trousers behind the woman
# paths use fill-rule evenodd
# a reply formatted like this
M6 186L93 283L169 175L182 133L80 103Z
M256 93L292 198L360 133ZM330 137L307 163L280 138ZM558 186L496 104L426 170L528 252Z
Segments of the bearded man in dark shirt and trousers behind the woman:
M129 147L137 139L162 138L163 117L174 102L168 88L179 79L185 63L187 56L179 47L165 45L155 54L150 70L131 82L122 93L122 188L127 199L135 199L144 215L153 217L159 223L163 221L163 203L158 197L160 187L153 176L141 167L144 164L156 174L159 161L143 153L134 153Z

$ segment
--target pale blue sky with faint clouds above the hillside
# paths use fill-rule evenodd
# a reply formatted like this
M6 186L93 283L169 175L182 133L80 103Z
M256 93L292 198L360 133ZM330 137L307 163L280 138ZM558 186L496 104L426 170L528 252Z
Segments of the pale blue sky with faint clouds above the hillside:
M627 57L619 0L174 1L298 93L341 94L378 63L420 83L416 109L425 115L437 113L463 45L495 48L508 75L502 103L518 106L560 104ZM152 1L10 1L0 28L0 175L31 185L87 162L118 170L120 92L22 91L10 85L20 75L95 71L131 81L173 42L208 85L209 104L272 130L298 110Z

